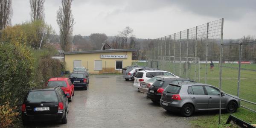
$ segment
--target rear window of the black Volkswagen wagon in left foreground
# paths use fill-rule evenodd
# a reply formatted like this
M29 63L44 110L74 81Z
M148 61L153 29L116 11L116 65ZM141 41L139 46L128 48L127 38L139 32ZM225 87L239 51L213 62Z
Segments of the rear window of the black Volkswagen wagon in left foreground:
M55 91L31 91L29 92L26 102L58 102L58 97Z

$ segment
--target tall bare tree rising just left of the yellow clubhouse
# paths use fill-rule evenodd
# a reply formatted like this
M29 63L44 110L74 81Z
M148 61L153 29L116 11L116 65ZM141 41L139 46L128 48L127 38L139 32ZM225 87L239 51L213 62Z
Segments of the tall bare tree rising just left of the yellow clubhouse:
M73 0L61 0L62 7L57 11L57 23L60 28L61 48L67 52L69 51L70 37L73 32L73 25L75 24L71 11L71 3Z

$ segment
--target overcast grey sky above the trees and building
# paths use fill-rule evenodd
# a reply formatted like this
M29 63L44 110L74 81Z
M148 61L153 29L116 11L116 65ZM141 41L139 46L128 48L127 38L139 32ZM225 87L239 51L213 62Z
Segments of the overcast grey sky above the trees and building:
M45 21L59 34L61 0L45 0ZM29 21L29 0L13 0L12 25ZM224 18L224 38L256 36L256 0L73 0L73 34L114 36L126 26L137 38L159 38Z

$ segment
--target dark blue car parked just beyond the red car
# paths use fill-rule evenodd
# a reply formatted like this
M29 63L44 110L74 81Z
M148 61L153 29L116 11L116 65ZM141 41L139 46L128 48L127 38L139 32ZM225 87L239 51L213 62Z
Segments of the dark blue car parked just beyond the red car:
M73 72L68 78L74 87L82 87L84 90L87 90L89 84L89 74L87 72Z

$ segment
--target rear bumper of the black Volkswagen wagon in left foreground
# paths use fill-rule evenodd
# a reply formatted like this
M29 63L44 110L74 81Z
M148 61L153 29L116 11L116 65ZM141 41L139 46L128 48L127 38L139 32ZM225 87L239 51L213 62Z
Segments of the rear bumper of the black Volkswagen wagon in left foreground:
M64 112L56 113L56 114L44 114L44 115L22 114L23 121L29 121L29 122L60 120L63 117L64 117Z

